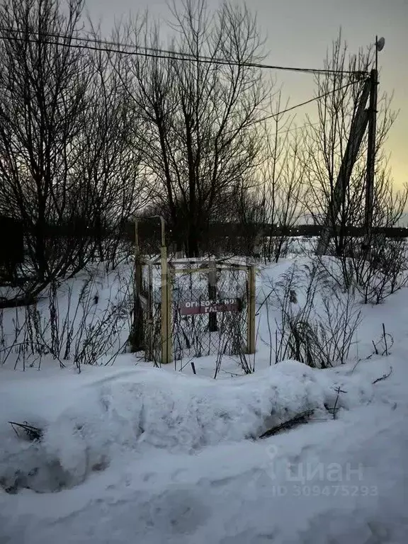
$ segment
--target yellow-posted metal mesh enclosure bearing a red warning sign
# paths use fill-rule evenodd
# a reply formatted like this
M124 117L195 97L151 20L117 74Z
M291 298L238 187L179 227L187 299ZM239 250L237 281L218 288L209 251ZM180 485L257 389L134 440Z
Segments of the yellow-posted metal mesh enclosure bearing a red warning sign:
M215 261L145 261L135 267L135 349L170 363L255 352L255 268Z

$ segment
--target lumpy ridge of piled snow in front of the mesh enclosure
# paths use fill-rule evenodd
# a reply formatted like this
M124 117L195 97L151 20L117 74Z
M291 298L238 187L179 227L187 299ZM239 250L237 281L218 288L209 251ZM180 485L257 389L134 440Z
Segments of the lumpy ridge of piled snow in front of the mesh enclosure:
M11 378L0 387L0 482L12 492L74 487L126 451L194 453L204 446L258 438L307 410L327 417L339 381L336 373L295 361L220 382L137 368ZM361 399L370 396L369 388L356 393ZM337 399L337 408L344 402ZM37 426L42 440L24 441L8 421Z

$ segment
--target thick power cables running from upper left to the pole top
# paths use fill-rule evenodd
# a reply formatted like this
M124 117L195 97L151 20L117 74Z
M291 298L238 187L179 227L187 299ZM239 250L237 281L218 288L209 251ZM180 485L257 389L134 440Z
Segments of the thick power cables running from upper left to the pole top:
M18 29L6 29L6 28L0 28L0 31L2 32L13 32L13 33L22 33L22 30ZM39 33L30 32L30 34L36 34L39 36ZM60 41L46 41L43 40L43 45L60 45L62 47L72 47L75 49L86 49L86 50L93 50L93 51L101 51L101 52L110 52L110 53L117 53L119 55L129 55L129 56L139 56L139 57L149 57L149 58L157 58L157 59L167 59L167 60L179 60L182 62L202 62L204 64L220 64L220 65L227 65L227 66L238 66L238 67L248 67L248 68L259 68L259 69L271 69L271 70L284 70L287 72L302 72L306 74L337 74L337 75L365 75L367 72L363 71L353 71L353 70L331 70L331 69L323 69L323 68L298 68L298 67L287 67L287 66L276 66L273 64L262 64L259 62L239 62L235 60L227 60L227 59L220 59L218 57L205 57L203 55L192 55L191 53L184 53L184 52L176 52L171 50L163 50L163 49L154 49L153 47L138 47L133 44L123 44L123 43L116 43L116 42L108 42L107 40L96 40L94 38L80 38L76 36L64 36L60 34L51 34L51 33L45 33L43 34L45 36L49 36L50 38L56 38L56 40L69 40L69 43L67 42L60 42ZM29 42L29 43L37 43L37 40L33 40L32 38L17 38L17 37L11 37L11 36L0 36L0 39L2 40L8 40L8 41L23 41L23 42ZM77 42L86 42L86 45L84 43L75 43L72 44L72 40ZM106 44L114 46L115 48L108 48L108 47L96 47L95 45L89 45L89 43L94 44ZM134 48L137 49L136 51L126 51L123 49L119 49L118 47L124 47L126 49L128 48Z

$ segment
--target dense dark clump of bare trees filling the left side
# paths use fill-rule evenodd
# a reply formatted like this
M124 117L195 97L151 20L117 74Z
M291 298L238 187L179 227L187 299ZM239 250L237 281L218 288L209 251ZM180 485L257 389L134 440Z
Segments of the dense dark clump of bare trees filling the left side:
M96 254L114 264L146 196L140 116L108 53L76 47L83 7L0 7L0 214L23 225L32 296Z

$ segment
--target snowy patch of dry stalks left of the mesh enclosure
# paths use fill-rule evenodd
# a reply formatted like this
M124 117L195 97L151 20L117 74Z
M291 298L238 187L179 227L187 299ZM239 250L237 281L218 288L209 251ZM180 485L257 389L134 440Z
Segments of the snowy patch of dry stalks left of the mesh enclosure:
M40 367L48 356L61 368L71 361L80 370L114 361L128 341L132 278L128 266L111 274L97 268L50 283L33 305L1 310L0 364L13 357L15 368Z

